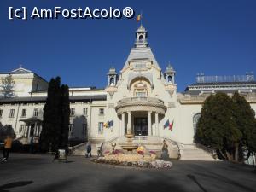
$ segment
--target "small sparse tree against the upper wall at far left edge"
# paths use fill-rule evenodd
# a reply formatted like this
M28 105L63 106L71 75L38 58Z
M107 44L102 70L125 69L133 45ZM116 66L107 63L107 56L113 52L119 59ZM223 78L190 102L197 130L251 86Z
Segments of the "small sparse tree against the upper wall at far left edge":
M15 80L13 79L12 75L9 73L4 79L2 79L1 84L1 92L4 98L15 96Z

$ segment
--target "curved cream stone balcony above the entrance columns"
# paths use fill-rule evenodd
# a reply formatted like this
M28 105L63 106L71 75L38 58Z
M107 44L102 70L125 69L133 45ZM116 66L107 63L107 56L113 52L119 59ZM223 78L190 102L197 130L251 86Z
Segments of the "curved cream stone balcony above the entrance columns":
M116 111L118 114L132 111L152 111L166 113L166 106L160 99L153 97L128 97L117 103Z

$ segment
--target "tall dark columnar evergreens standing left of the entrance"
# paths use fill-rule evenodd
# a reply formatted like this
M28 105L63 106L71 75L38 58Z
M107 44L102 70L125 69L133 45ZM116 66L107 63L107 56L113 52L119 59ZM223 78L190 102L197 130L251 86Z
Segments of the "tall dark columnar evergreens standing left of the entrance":
M40 144L43 151L67 148L69 125L69 90L61 78L51 79L44 105L43 129Z

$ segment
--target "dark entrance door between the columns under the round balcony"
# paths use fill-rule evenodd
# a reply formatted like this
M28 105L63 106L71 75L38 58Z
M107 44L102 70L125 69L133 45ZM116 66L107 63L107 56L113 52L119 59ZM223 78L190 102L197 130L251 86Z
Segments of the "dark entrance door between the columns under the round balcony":
M134 134L148 136L148 118L134 118Z

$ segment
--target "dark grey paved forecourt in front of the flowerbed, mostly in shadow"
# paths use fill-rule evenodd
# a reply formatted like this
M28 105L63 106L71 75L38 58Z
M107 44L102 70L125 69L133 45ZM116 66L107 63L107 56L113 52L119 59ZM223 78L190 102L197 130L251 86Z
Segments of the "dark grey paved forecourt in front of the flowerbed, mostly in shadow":
M256 172L227 162L172 161L169 170L98 165L84 157L52 162L41 154L10 154L0 164L0 191L256 192Z

